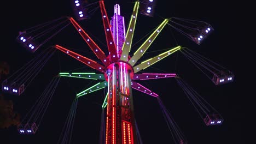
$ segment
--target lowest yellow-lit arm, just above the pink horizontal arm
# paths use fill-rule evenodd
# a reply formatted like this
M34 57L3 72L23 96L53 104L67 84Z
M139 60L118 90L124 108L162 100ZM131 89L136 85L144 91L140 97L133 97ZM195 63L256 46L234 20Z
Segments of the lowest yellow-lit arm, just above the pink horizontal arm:
M177 46L172 48L171 50L168 50L164 53L161 53L158 56L155 56L153 58L149 58L144 62L141 62L140 64L136 65L133 69L134 69L134 73L137 73L138 71L142 70L142 69L146 69L148 68L150 65L153 65L156 62L159 62L160 60L164 59L165 57L171 55L173 52L176 52L178 50L181 50L181 46Z

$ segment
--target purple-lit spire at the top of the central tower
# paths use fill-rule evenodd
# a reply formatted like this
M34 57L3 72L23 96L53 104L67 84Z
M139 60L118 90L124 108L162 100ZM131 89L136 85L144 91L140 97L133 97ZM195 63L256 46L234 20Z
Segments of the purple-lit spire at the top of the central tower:
M120 15L120 6L115 4L114 15L110 21L111 31L113 34L114 43L117 46L118 57L121 55L122 46L125 41L125 24L124 17Z

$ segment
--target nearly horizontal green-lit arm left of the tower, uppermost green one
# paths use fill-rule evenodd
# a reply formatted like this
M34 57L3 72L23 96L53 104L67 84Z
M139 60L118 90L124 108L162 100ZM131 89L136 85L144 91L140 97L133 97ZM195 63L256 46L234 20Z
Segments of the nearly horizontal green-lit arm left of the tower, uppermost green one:
M103 74L96 73L60 73L60 76L75 77L79 79L105 80Z

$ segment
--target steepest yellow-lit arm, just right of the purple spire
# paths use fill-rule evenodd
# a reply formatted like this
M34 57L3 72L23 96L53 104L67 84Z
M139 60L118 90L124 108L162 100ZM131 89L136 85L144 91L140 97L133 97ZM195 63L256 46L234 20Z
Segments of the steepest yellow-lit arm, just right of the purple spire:
M127 61L129 52L131 50L131 45L132 45L132 39L133 39L133 34L135 31L135 25L136 25L136 20L137 20L137 15L138 15L138 9L139 9L139 2L135 2L135 5L133 7L133 12L132 16L130 19L129 27L126 32L126 38L122 47L122 55L121 55L121 61Z

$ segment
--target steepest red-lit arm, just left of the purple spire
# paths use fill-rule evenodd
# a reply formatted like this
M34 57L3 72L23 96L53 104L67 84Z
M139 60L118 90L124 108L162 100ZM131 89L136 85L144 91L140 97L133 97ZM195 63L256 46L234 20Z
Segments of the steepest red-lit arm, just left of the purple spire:
M117 48L115 47L113 35L112 35L112 32L110 31L110 24L108 20L108 14L105 9L104 1L100 1L100 8L101 8L101 16L102 16L105 35L106 35L107 45L108 45L108 51L110 52L110 59L112 59L113 61L117 61L118 60Z

